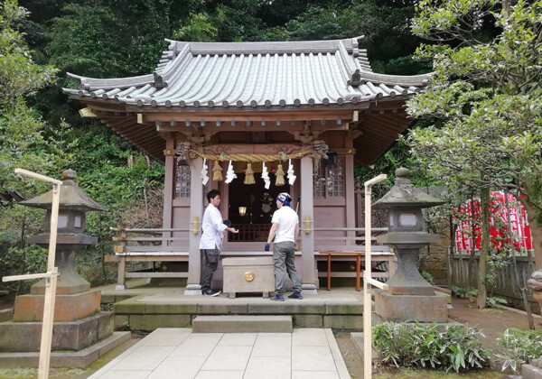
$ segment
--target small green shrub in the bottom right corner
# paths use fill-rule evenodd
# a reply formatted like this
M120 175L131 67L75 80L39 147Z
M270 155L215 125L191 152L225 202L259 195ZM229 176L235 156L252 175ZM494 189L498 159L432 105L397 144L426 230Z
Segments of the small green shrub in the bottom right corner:
M522 330L508 328L495 342L506 348L499 355L504 359L502 371L510 367L515 373L519 373L521 365L530 363L534 358L542 355L542 332L540 330Z

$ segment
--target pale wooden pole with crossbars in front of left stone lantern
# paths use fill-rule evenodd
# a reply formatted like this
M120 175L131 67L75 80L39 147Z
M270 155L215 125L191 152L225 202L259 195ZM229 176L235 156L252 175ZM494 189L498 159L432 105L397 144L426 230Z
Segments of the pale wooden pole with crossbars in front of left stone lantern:
M52 184L51 203L51 235L49 237L49 255L47 257L47 273L18 276L6 276L3 282L14 280L45 278L45 297L43 303L42 342L40 345L40 364L38 367L38 379L49 377L49 365L51 362L52 323L54 320L54 301L56 296L58 268L54 266L56 254L57 227L59 220L59 202L61 199L62 181L37 174L32 171L15 169L15 173L28 176L37 180L47 181Z

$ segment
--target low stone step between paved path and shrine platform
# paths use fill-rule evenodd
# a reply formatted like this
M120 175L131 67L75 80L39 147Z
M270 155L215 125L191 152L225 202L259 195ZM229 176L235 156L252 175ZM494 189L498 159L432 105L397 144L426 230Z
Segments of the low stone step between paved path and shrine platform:
M292 316L220 315L192 320L193 333L291 333Z

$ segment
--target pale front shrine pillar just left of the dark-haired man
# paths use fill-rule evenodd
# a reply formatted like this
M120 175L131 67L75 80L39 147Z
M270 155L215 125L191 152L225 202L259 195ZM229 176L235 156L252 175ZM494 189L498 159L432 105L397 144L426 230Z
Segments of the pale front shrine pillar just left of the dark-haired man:
M201 168L203 160L195 158L190 162L191 193L190 193L190 219L189 245L188 245L188 281L185 295L201 295L201 217L203 217L203 186L201 185ZM195 233L194 233L195 232Z

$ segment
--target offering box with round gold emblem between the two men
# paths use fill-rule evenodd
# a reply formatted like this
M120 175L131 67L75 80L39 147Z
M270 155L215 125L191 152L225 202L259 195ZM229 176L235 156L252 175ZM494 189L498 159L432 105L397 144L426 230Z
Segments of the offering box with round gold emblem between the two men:
M262 292L266 298L275 291L273 258L270 256L224 258L224 292L234 298L237 292Z

